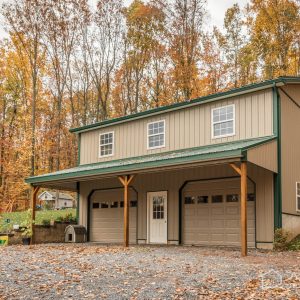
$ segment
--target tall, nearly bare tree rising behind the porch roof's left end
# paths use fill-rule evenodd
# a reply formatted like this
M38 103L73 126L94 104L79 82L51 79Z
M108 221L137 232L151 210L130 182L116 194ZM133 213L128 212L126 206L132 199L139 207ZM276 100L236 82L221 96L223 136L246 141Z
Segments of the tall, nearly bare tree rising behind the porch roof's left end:
M79 38L82 23L87 22L89 9L86 0L47 0L43 3L45 14L43 18L43 45L47 52L49 80L48 85L55 99L54 124L56 127L55 169L61 167L61 135L62 122L65 119L63 111L67 81L70 79L71 55Z

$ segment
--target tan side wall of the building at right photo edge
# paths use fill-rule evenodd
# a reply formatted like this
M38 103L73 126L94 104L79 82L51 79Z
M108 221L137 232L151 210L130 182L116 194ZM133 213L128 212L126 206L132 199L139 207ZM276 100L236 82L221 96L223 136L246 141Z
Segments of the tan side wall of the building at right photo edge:
M299 85L283 86L282 89L300 105ZM288 219L292 217L284 215L300 216L300 213L296 211L296 181L300 181L300 108L281 91L280 98L283 228L291 229L294 231L294 234L300 234L300 226L297 227L297 230L292 229L291 226L288 226L288 224L291 224ZM300 222L300 218L298 217L297 219ZM296 228L295 226L292 227Z

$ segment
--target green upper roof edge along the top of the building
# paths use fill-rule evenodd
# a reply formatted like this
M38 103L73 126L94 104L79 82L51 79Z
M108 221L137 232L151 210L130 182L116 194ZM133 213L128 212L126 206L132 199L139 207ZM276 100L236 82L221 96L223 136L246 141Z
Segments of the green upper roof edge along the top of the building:
M252 90L264 88L264 87L268 88L268 87L271 87L272 85L280 84L280 83L282 83L282 84L300 83L300 77L291 77L291 76L278 77L276 79L270 79L270 80L262 81L259 83L245 85L243 87L234 88L234 89L231 89L231 90L228 90L225 92L211 94L211 95L200 97L200 98L195 98L195 99L192 99L189 101L178 102L178 103L174 103L174 104L170 104L170 105L166 105L166 106L152 108L152 109L149 109L149 110L146 110L143 112L139 112L139 113L123 116L123 117L104 120L102 122L97 122L97 123L86 125L86 126L71 128L69 131L73 132L73 133L78 133L81 131L88 131L88 130L92 130L92 129L95 129L98 127L113 125L113 124L119 123L119 122L125 122L125 121L129 121L129 120L134 120L137 118L147 117L147 116L151 116L153 114L163 113L163 112L171 111L171 110L178 109L181 107L182 108L189 107L189 106L192 106L192 105L195 105L195 104L198 104L201 102L205 102L205 101L218 100L218 98L221 98L221 97L226 97L226 96L231 96L231 95L233 96L234 94L238 94L238 93L247 93L247 92L251 92Z

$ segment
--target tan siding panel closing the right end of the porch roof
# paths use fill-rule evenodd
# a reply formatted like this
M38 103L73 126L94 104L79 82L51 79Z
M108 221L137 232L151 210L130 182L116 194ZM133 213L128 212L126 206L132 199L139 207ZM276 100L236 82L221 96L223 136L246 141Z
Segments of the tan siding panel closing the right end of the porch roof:
M277 173L277 141L271 141L247 151L247 160Z

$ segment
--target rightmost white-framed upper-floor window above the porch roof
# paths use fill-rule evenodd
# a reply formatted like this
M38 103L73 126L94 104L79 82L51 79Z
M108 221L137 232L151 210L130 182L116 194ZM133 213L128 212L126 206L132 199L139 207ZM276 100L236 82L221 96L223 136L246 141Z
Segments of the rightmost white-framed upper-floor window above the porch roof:
M212 109L212 138L235 134L234 104Z

